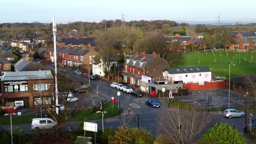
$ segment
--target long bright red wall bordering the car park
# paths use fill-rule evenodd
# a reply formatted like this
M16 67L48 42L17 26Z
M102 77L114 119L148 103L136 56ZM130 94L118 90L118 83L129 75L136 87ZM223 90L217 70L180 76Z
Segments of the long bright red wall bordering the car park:
M206 82L205 85L199 85L199 83L183 83L183 87L188 88L189 91L197 91L203 89L218 89L226 88L226 82Z

